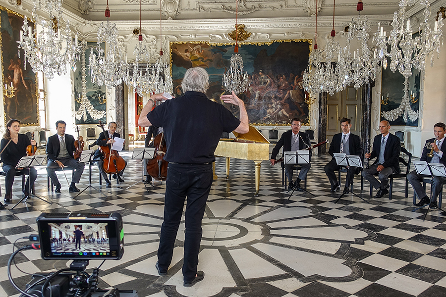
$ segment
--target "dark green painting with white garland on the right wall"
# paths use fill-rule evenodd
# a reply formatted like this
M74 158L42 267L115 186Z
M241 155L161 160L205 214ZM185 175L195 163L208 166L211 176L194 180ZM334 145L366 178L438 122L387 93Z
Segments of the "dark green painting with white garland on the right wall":
M383 116L383 111L397 109L404 98L404 76L396 70L392 72L390 67L382 71L381 84L381 121L388 120ZM409 105L413 111L420 110L420 71L412 67L412 75L409 77ZM418 118L414 121L407 117L404 120L404 113L395 120L388 120L390 126L410 126L418 127Z

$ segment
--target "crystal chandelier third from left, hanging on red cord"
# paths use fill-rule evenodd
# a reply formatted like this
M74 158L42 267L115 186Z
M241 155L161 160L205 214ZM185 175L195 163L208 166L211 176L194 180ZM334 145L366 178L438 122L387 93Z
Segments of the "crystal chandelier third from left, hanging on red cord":
M141 0L139 0L139 35L138 44L133 49L133 54L135 55L135 61L133 62L133 73L130 75L129 69L123 77L124 83L128 87L133 87L139 96L144 96L145 94L151 94L153 90L153 77L150 71L150 51L147 49L146 45L143 44L143 38L141 33ZM141 62L146 62L146 69L140 66Z

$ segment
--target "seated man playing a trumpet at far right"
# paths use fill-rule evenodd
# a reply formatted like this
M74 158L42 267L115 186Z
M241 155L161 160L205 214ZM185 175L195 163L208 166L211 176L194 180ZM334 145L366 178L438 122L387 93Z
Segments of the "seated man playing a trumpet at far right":
M423 152L421 153L420 161L426 161L428 163L442 163L446 165L446 144L445 144L445 132L446 125L444 123L437 123L434 125L434 135L435 138L428 139L426 145L424 146ZM428 148L428 144L431 146ZM434 156L428 157L428 152L434 149ZM426 177L426 175L419 175L415 170L407 175L407 180L412 185L413 191L417 194L420 201L415 204L417 206L423 206L425 204L431 203L431 207L438 207L437 196L442 190L442 184L446 180L444 177L434 176L431 182L431 194L432 198L426 195L426 191L421 185L421 179ZM444 214L444 213L442 213Z

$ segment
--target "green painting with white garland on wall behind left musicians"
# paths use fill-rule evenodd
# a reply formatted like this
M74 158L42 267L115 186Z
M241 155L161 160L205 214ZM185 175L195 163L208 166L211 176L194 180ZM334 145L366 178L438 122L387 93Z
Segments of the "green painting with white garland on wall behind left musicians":
M102 43L101 47L105 49L105 43ZM96 42L87 43L82 58L76 62L76 70L74 71L76 125L97 124L99 120L103 124L107 122L106 87L91 82L90 67L88 66L91 50L97 52ZM82 98L83 77L85 80L85 98Z

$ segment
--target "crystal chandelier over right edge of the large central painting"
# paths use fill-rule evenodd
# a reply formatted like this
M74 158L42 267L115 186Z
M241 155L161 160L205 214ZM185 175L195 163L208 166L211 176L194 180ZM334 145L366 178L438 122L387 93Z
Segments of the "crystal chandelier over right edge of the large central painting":
M308 66L302 76L302 86L308 94L313 95L324 91L324 78L322 67L322 50L318 49L318 1L316 0L316 26L314 49L310 52Z

